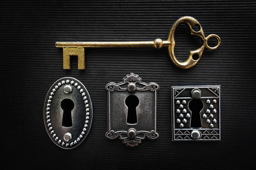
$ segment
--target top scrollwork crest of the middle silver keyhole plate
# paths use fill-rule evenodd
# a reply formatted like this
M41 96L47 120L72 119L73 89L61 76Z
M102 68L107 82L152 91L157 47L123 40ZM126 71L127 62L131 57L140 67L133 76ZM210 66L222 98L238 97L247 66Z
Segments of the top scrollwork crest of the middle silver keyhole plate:
M142 79L136 75L136 74L133 74L131 73L130 75L126 75L125 78L123 78L123 82L120 82L120 83L114 83L114 82L111 82L111 83L108 83L106 85L106 90L110 91L110 92L113 92L113 91L126 91L127 90L127 85L130 84L130 83L133 83L133 84L141 84L141 85L144 85L143 88L139 88L136 86L136 90L138 91L147 91L147 90L151 90L151 91L156 91L159 89L159 86L158 84L156 83L144 83L142 82ZM121 86L122 85L126 85L125 88L122 88Z

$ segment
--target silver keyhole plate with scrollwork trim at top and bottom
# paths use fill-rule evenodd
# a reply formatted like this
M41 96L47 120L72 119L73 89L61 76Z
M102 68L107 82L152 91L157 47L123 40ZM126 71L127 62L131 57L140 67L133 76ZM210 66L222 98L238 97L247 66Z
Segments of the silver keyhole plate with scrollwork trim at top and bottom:
M127 146L141 140L158 138L156 132L156 83L143 83L138 75L126 75L121 83L108 83L108 132L106 137L119 137Z

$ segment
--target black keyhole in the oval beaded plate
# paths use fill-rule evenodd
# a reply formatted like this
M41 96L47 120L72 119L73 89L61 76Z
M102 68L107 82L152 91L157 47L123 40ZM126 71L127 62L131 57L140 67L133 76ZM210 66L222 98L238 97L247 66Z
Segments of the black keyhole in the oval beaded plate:
M61 101L60 106L63 110L62 126L72 127L71 110L74 108L74 102L70 99L64 99Z

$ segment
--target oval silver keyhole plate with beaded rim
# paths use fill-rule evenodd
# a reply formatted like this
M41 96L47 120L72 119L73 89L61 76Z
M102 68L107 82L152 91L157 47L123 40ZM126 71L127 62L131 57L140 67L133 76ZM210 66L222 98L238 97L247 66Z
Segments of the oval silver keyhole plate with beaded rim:
M44 102L44 123L56 145L64 149L78 146L87 137L92 119L92 101L80 81L64 77L51 86Z

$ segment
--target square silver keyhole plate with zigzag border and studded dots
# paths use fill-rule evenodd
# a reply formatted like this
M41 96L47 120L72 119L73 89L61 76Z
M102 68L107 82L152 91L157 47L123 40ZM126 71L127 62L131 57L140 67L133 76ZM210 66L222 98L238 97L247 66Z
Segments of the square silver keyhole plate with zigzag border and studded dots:
M220 141L220 86L172 87L173 141Z

